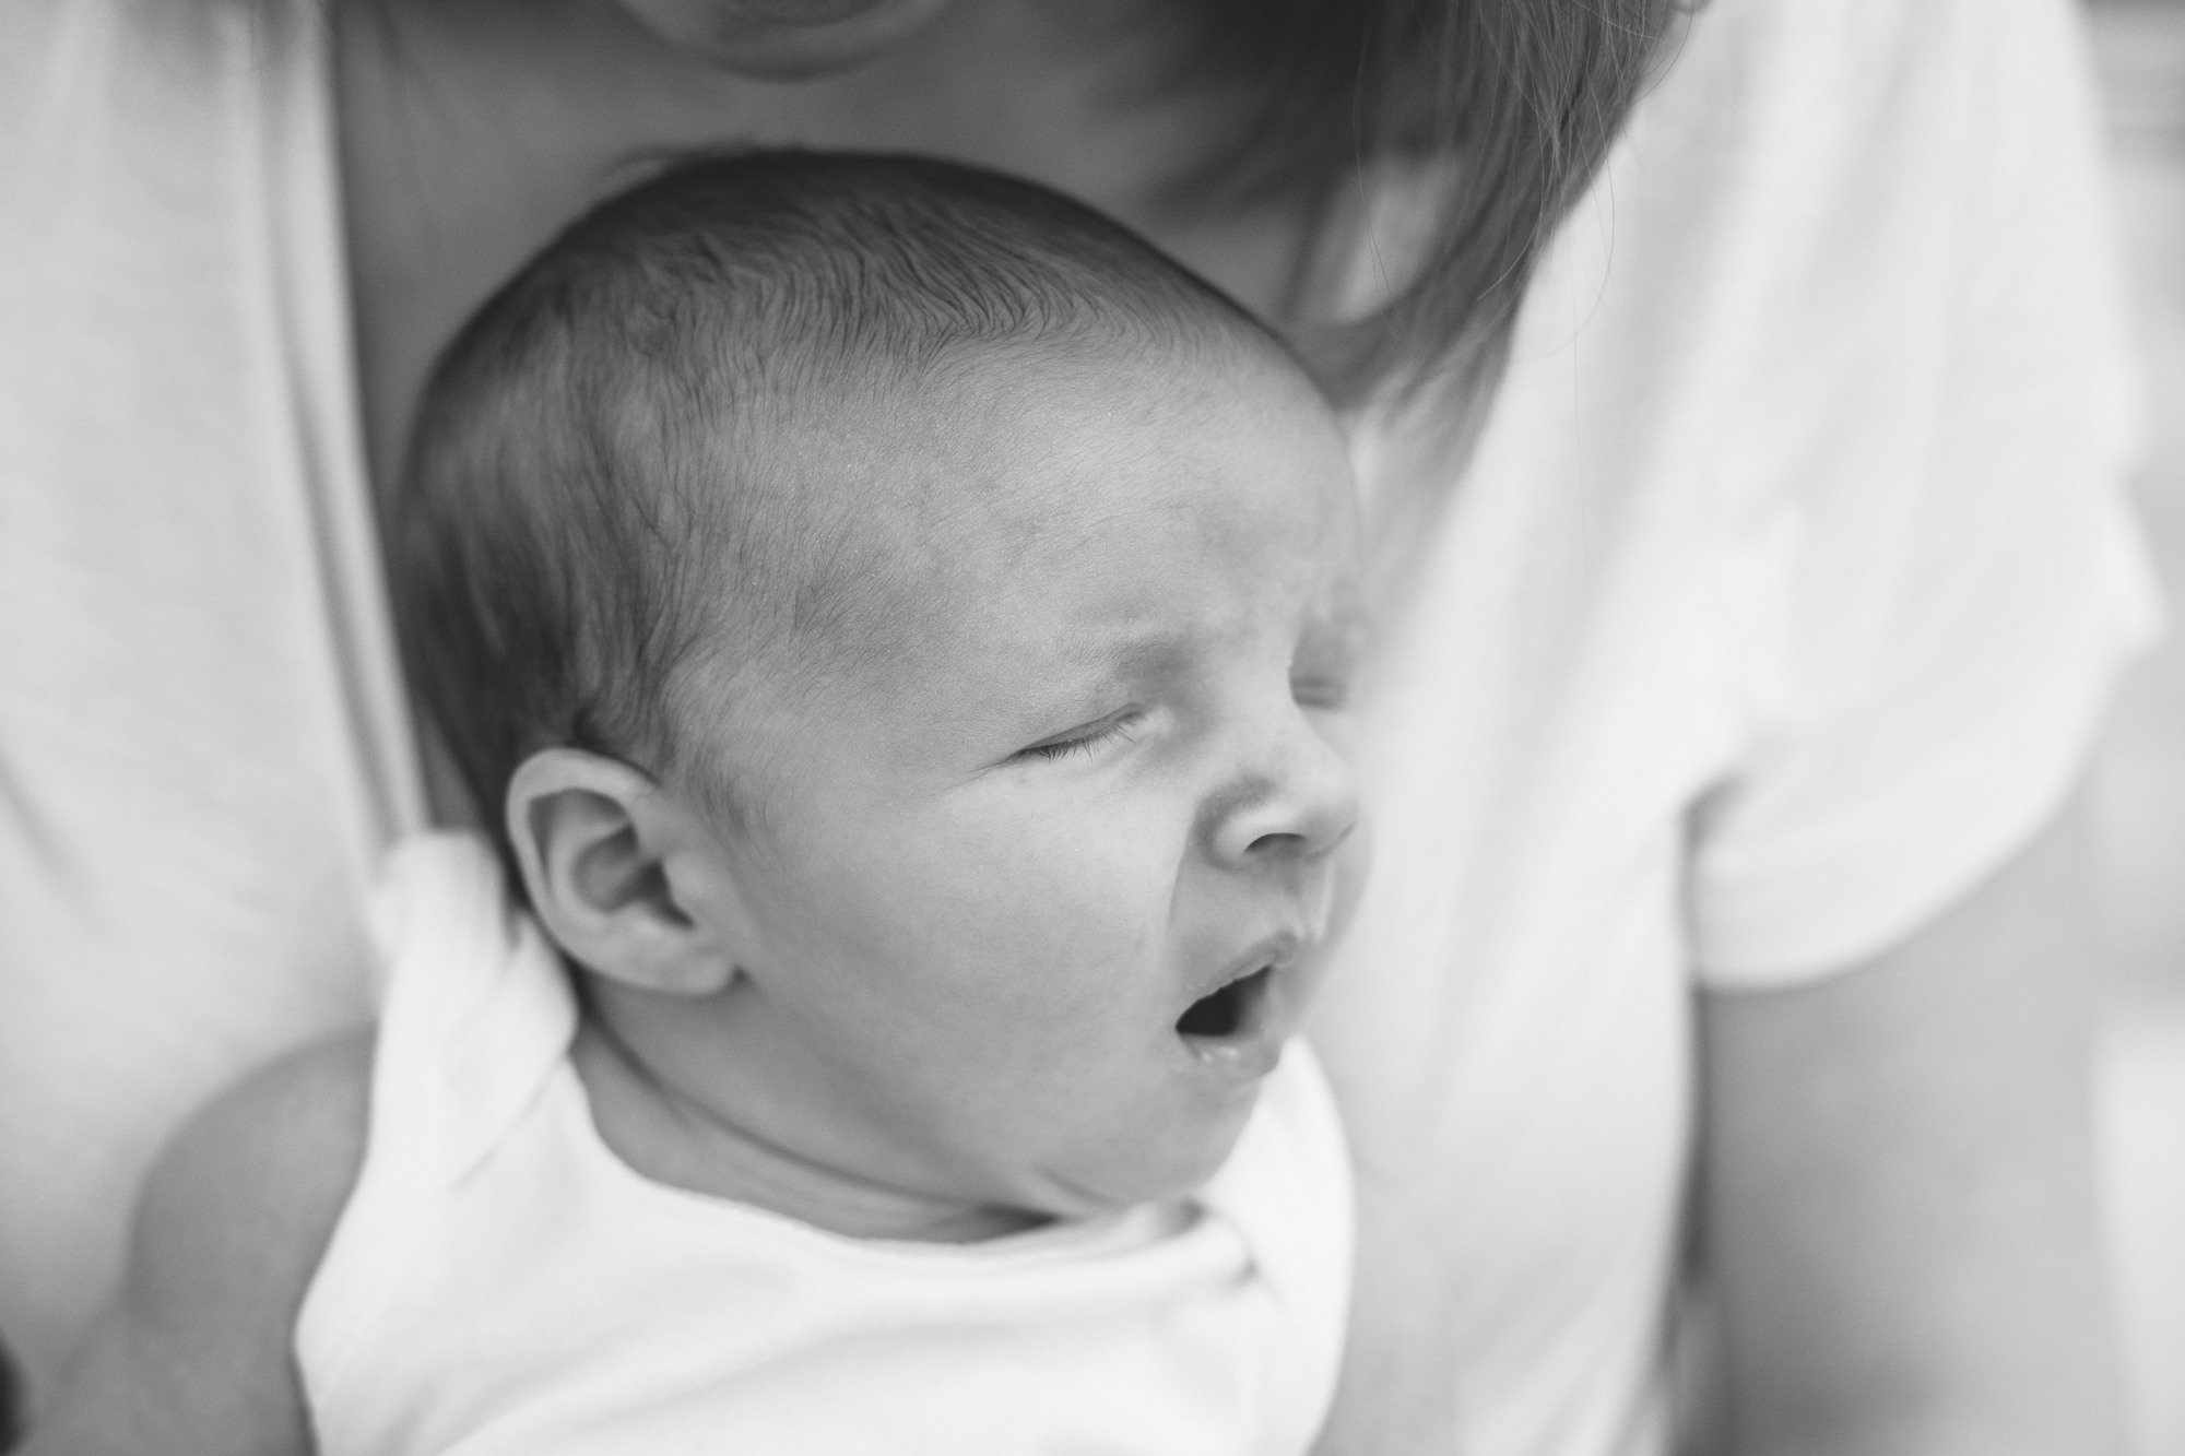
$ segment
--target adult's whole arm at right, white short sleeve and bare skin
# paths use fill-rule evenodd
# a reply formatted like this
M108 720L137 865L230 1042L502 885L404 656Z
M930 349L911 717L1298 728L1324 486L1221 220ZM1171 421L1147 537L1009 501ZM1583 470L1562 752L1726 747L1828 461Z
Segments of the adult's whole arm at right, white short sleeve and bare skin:
M1785 468L1781 693L1693 872L1731 1449L2100 1454L2100 973L2058 805L2152 614L2098 114L2058 0L1846 17L1894 39L1807 278L1903 293Z

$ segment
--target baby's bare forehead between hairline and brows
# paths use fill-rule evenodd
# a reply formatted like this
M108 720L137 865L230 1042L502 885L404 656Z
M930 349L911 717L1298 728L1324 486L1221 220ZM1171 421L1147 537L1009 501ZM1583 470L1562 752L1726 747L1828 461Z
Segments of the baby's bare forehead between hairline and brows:
M1267 601L1302 621L1342 595L1348 461L1307 385L1092 363L804 400L745 542L769 579L728 582L741 641L706 654L749 665L697 700L721 752L793 756L843 715L955 732L1042 682L1219 665Z

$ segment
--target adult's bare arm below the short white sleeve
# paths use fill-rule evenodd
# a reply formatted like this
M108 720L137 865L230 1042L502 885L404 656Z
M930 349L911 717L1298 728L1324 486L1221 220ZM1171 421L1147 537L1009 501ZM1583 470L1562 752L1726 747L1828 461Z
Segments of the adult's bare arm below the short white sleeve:
M2117 1366L2065 813L1831 979L1702 1001L1702 1257L1737 1456L2100 1456Z

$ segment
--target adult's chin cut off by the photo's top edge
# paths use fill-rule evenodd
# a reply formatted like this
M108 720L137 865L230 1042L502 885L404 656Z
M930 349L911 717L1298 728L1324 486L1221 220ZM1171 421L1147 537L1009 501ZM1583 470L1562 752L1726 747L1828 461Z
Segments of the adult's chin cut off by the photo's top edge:
M804 81L872 61L953 0L616 0L645 28L721 70Z

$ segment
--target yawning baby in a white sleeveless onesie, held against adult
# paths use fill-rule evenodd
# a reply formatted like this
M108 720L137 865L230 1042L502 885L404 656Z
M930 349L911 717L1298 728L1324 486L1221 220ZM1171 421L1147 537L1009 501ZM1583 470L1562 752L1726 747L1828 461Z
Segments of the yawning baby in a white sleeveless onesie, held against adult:
M579 221L391 509L492 846L402 846L376 1036L177 1139L33 1449L1307 1449L1353 512L1283 345L1040 188Z

